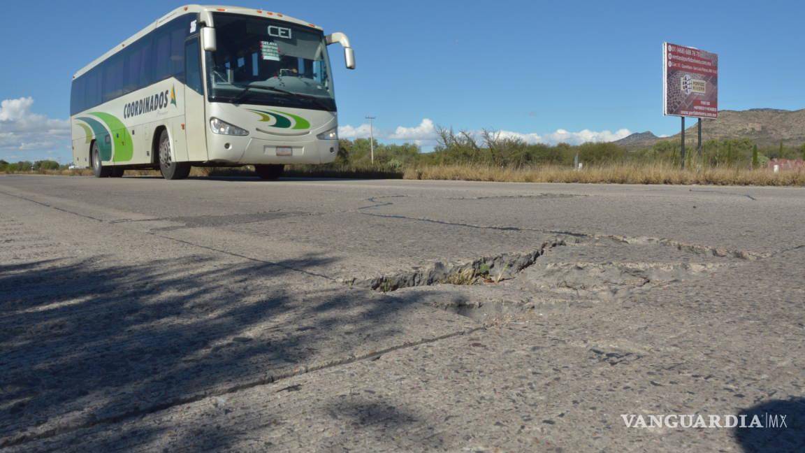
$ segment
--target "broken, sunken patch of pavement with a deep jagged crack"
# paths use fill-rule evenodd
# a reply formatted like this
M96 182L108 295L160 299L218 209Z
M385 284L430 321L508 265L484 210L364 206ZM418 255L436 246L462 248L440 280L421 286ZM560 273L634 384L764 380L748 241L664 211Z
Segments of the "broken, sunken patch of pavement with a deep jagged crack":
M565 240L543 243L529 253L455 264L439 262L351 283L489 326L600 303L619 303L642 297L652 289L708 278L720 268L735 265L704 257L702 262L680 262L679 256L668 254L662 244L605 245L600 241ZM568 245L575 247L559 247ZM625 253L623 247L635 248ZM658 247L666 253L658 255L642 247ZM628 260L628 255L650 261ZM619 260L605 260L607 256L617 256ZM579 260L584 257L593 260Z

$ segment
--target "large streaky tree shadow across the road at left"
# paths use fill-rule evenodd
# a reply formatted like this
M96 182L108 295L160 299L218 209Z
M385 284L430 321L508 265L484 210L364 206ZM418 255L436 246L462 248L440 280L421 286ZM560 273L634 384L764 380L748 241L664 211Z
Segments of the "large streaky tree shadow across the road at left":
M407 304L341 285L288 292L289 274L313 278L291 268L329 260L0 266L0 447L43 437L61 450L68 441L51 437L61 431L75 433L76 447L81 429L270 381L271 372L343 355L363 334L398 333L386 322ZM345 325L361 335L334 334ZM138 429L137 444L169 428ZM131 435L106 431L109 445ZM217 438L225 443L225 431Z

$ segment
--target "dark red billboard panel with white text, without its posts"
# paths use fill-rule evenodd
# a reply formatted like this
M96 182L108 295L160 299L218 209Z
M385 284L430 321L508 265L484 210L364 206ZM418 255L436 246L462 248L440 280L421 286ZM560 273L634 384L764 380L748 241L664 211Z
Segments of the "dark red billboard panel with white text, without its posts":
M663 43L663 114L718 118L718 56Z

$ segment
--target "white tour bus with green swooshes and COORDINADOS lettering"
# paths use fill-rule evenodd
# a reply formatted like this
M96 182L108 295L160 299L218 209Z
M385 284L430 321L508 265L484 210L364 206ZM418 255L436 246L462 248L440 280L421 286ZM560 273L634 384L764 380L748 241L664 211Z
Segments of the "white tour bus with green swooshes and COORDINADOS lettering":
M254 165L276 179L286 164L332 162L335 43L354 69L343 33L273 11L182 6L73 76L73 164L175 180L194 165Z

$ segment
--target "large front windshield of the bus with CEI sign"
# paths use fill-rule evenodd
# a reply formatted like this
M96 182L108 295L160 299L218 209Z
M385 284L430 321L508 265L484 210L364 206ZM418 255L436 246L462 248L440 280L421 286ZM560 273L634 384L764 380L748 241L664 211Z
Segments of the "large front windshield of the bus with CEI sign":
M217 14L207 52L211 102L336 110L324 35L314 28Z

